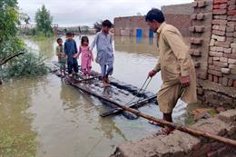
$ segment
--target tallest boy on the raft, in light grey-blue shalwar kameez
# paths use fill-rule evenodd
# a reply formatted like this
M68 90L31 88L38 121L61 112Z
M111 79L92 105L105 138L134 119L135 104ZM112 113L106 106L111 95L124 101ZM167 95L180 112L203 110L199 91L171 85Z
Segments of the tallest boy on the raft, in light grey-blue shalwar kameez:
M109 31L112 27L112 23L109 20L102 22L102 30L98 32L92 43L91 50L94 46L97 46L97 58L96 62L101 67L101 75L103 80L103 85L109 86L108 76L113 73L113 46L112 46L112 36Z

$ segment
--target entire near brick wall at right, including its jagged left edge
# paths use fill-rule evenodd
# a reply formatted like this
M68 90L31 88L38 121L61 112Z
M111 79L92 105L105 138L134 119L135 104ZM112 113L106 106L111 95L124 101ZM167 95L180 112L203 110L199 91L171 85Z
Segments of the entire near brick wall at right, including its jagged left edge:
M191 16L191 55L198 98L209 106L236 107L236 2L197 0Z

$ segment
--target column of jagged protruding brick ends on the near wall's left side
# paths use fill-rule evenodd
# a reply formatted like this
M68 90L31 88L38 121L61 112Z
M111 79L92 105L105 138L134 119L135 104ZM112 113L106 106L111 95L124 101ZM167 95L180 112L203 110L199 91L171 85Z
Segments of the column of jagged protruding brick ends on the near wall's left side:
M194 12L191 16L192 26L189 27L192 36L190 55L195 63L198 80L207 80L213 3L209 0L196 0L192 7ZM197 93L199 101L203 103L204 90L199 84Z

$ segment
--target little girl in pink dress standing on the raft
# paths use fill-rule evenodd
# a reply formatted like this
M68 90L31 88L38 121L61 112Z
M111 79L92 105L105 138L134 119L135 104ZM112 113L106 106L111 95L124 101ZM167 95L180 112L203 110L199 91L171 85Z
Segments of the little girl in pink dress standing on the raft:
M93 53L89 48L89 39L87 36L82 36L79 52L76 57L81 54L81 69L85 77L89 77L92 69Z

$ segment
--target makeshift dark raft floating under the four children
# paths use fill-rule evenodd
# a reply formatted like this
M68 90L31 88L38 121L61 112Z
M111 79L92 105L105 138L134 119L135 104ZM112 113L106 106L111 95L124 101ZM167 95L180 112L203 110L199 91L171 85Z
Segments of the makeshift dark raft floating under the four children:
M53 73L61 77L58 64L54 63L54 65ZM124 109L119 107L121 104L137 109L150 102L156 102L156 94L121 82L113 77L109 78L110 86L103 87L99 73L95 71L92 71L91 76L86 79L82 77L80 70L74 77L71 78L66 74L63 79L67 84L98 98L104 105L108 105L110 109L100 114L102 117L122 113Z

